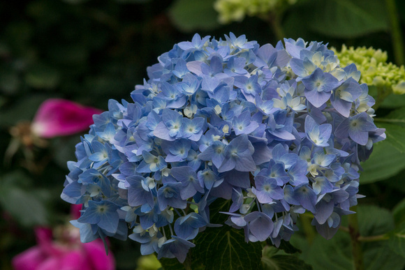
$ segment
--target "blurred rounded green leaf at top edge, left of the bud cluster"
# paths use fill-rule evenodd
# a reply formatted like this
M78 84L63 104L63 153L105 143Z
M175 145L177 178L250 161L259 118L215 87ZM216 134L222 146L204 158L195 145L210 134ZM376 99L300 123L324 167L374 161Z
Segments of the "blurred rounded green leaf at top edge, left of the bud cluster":
M219 27L214 0L176 0L172 3L169 17L178 29L186 32Z

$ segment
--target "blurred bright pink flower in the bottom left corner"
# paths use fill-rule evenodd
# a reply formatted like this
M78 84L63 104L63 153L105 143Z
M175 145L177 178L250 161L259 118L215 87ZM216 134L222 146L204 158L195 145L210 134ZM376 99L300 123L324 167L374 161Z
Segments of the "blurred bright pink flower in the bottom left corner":
M39 227L35 233L38 245L13 258L15 270L115 269L114 257L110 252L105 255L101 239L81 243L75 227L62 229L59 241L52 240L52 230L48 228Z

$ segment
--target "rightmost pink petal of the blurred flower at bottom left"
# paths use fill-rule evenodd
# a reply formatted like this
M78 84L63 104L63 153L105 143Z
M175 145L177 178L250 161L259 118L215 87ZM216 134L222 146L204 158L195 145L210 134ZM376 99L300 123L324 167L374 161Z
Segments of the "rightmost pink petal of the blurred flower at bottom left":
M84 243L83 248L94 270L115 269L114 255L112 255L110 250L108 251L108 255L105 254L104 244L101 239Z

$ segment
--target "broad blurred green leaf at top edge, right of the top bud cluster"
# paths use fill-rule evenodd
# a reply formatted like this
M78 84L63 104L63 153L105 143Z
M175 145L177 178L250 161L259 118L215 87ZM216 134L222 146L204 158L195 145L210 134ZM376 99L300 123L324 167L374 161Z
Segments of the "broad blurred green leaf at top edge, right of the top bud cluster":
M292 22L305 22L304 26L311 31L336 38L355 38L390 29L384 1L304 1L286 17L288 29L296 36Z

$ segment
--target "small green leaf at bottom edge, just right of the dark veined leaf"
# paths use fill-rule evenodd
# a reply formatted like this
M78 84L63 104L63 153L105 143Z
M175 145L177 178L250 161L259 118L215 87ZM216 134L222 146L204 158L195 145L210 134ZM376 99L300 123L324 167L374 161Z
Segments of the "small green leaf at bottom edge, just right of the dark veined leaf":
M288 242L286 242L288 243ZM262 267L264 270L311 270L312 267L294 255L277 255L277 248L265 246L263 248Z

